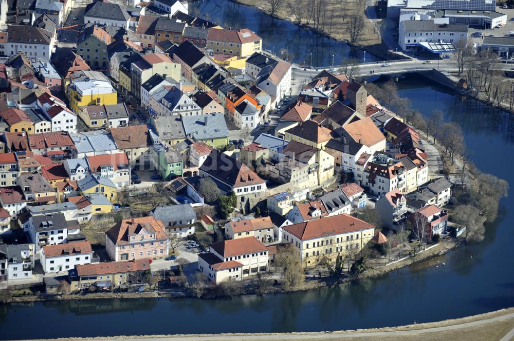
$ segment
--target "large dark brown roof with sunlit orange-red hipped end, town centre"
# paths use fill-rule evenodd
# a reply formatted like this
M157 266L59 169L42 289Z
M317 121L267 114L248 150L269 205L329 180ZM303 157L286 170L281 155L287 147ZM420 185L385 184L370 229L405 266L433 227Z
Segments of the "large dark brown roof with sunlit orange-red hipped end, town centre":
M200 170L232 188L265 183L248 166L227 154L219 152L217 149L213 149L207 156Z

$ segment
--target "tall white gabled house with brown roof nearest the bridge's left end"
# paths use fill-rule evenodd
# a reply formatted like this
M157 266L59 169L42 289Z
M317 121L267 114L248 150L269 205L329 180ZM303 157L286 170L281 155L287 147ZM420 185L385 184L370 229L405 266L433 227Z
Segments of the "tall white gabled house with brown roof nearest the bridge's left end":
M279 61L277 64L264 67L256 77L257 86L276 98L273 103L275 107L286 94L291 93L291 70L291 64Z

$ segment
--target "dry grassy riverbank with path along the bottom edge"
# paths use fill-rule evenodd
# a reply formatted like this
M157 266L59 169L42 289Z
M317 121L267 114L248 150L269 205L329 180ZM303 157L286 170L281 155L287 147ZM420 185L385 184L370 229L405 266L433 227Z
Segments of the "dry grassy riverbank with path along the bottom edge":
M180 334L149 336L113 336L93 338L58 338L59 341L229 341L229 340L381 340L428 341L434 339L453 341L509 340L514 336L514 308L501 309L474 316L447 319L439 322L411 324L398 327L343 330L307 333L248 333L248 334ZM29 340L27 340L29 341ZM30 340L31 341L31 340Z

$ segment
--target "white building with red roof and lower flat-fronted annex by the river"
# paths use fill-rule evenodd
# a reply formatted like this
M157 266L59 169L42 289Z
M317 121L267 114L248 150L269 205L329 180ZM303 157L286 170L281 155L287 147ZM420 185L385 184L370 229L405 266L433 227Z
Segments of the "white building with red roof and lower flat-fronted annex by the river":
M241 280L268 271L268 257L268 248L255 237L225 240L210 244L209 253L198 255L198 270L215 284Z

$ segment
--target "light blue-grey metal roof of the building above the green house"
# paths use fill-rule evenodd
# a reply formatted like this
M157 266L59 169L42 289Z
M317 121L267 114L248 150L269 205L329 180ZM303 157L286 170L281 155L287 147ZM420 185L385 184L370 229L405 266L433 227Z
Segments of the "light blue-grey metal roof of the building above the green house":
M184 131L188 137L210 139L230 136L223 114L182 117Z

